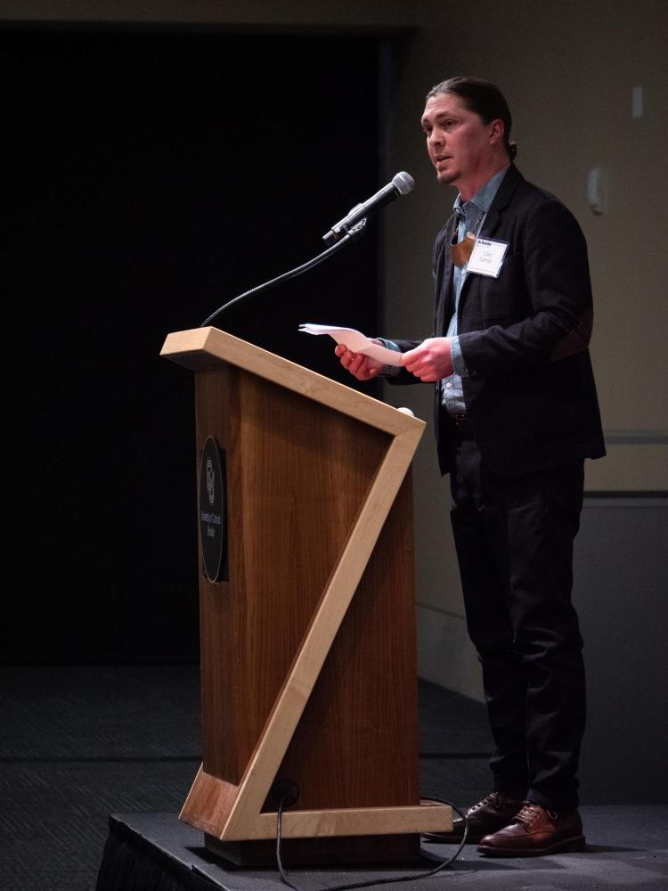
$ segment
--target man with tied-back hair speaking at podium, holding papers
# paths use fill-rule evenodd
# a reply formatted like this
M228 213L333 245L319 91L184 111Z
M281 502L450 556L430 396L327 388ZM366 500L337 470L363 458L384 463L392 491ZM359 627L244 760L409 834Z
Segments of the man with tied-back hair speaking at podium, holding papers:
M467 812L469 839L498 856L582 849L582 638L571 603L583 462L605 454L587 345L586 244L553 195L512 163L496 86L451 78L422 127L439 183L459 194L436 237L433 336L383 340L401 369L344 346L359 380L436 384L440 467L468 633L483 670L493 791ZM455 821L452 834L461 838Z

